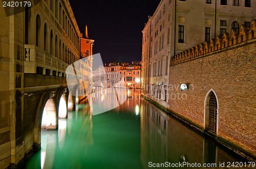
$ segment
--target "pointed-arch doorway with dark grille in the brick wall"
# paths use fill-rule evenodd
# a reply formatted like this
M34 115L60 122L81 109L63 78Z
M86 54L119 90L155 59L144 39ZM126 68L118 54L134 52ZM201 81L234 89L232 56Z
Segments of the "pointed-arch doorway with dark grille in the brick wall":
M218 128L218 101L213 91L209 92L205 105L205 129L216 135Z

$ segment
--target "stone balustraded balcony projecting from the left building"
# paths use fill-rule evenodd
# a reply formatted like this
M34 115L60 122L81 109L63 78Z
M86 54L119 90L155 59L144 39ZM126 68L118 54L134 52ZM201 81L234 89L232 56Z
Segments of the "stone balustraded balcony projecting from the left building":
M47 53L36 45L24 45L24 73L36 73L36 68L42 68L42 74L46 74L46 69L58 72L57 76L65 75L65 71L69 64Z

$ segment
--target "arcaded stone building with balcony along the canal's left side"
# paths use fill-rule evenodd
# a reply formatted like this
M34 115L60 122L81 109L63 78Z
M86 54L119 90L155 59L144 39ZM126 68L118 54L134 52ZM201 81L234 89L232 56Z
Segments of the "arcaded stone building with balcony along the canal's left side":
M67 89L66 68L79 60L81 34L67 0L31 1L21 10L1 6L0 15L0 168L6 168L39 148L40 98L52 90L49 100L58 106L57 89Z

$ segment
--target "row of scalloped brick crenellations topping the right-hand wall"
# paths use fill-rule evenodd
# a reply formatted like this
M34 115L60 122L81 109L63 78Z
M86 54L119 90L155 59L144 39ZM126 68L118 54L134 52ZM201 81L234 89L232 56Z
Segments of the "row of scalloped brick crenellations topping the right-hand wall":
M211 52L219 52L225 48L235 46L255 38L256 19L253 19L250 23L250 29L248 29L245 25L241 25L239 33L233 29L230 35L228 33L225 33L223 37L217 36L216 40L211 39L210 42L201 43L196 47L192 47L179 54L176 54L171 58L170 65L178 64L183 61L197 58L201 55L208 54Z

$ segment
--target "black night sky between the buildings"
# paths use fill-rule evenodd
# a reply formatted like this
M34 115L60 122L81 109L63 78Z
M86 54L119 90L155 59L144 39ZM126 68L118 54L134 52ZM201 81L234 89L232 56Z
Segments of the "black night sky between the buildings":
M88 26L103 63L141 61L142 30L160 0L70 1L80 32Z

